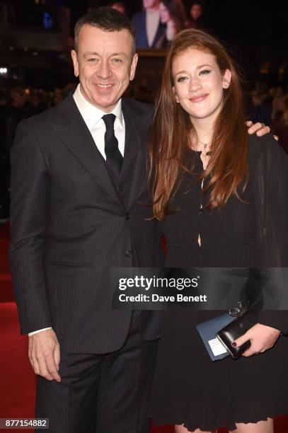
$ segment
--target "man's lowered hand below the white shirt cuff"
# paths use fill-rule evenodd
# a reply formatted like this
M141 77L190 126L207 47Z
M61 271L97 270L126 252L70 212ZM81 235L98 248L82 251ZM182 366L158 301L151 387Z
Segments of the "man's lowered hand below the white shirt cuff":
M61 381L58 374L60 363L60 345L54 330L47 329L29 337L28 356L36 374Z

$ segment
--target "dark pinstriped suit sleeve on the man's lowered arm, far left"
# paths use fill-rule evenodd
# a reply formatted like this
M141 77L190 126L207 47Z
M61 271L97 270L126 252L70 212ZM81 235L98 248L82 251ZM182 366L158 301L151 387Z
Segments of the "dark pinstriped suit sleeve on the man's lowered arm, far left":
M11 245L13 289L26 334L52 326L44 252L51 178L27 121L18 125L11 149Z

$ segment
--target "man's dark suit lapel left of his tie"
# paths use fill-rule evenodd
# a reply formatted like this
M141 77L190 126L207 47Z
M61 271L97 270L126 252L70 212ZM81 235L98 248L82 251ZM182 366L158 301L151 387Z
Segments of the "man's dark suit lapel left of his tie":
M58 122L52 123L52 127L63 144L103 187L103 190L108 192L113 200L121 203L113 180L108 173L105 159L98 151L72 95L68 96L61 106L59 105Z

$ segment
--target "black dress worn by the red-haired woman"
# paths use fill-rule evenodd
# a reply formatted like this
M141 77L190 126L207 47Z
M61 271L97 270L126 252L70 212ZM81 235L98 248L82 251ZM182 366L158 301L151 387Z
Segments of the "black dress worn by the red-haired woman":
M195 158L195 173L200 173L200 153L188 151L188 158ZM243 201L232 197L212 212L205 209L201 183L192 183L194 175L183 175L170 204L178 212L163 223L167 267L287 266L288 157L272 136L253 135L248 167ZM212 362L195 325L220 313L163 312L149 408L155 425L235 429L236 422L288 412L288 337L281 336L263 354ZM288 311L261 311L259 316L260 323L287 334Z

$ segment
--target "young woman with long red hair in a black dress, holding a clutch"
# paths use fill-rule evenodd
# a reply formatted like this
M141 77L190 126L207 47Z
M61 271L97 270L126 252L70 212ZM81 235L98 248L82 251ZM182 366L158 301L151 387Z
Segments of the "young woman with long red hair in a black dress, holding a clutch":
M272 135L248 136L244 122L228 52L201 30L180 32L149 144L166 267L287 266L288 157ZM149 415L177 433L271 433L272 418L288 412L287 311L259 311L236 340L251 342L243 356L212 362L195 325L219 314L163 313Z

